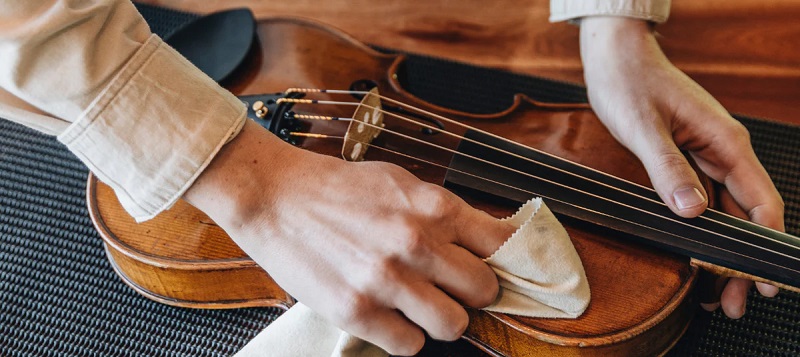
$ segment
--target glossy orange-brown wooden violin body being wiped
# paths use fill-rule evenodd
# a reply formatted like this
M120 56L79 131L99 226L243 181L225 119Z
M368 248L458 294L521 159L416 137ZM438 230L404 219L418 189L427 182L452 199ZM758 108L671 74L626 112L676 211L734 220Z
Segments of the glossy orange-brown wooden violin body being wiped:
M623 148L586 105L537 103L523 95L507 110L471 114L439 107L402 88L404 57L376 52L321 24L298 19L267 19L258 24L260 44L248 62L225 83L237 95L287 88L377 86L387 97L446 116L469 126L650 185L638 159ZM297 112L352 115L352 108L298 105ZM322 112L324 110L324 112ZM348 113L350 111L350 113ZM388 125L388 124L387 124ZM306 124L313 133L342 133L341 123ZM458 142L398 124L397 130L446 147ZM457 128L448 128L458 130ZM380 137L385 147L397 140ZM306 138L299 146L339 156L341 141ZM407 153L438 157L447 152L405 148ZM446 170L373 150L368 160L406 168L420 179L442 184ZM280 159L280 158L276 158ZM713 188L705 179L709 193ZM450 187L473 206L497 217L516 206L469 190ZM298 189L303 189L298 187ZM113 191L89 178L92 220L104 239L109 260L123 280L143 295L170 305L196 308L278 306L294 300L241 251L205 214L181 201L158 217L136 224ZM712 200L713 201L713 200ZM690 258L639 244L628 234L559 217L581 257L592 300L577 319L526 318L470 310L465 338L493 355L660 355L682 335L694 311L693 286L698 268Z

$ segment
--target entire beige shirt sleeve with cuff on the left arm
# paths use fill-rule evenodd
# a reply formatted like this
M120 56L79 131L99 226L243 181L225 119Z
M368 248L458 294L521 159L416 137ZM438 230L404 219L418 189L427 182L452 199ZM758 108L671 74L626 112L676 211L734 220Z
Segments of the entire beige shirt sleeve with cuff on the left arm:
M127 0L0 0L0 117L58 135L143 221L180 198L246 109Z

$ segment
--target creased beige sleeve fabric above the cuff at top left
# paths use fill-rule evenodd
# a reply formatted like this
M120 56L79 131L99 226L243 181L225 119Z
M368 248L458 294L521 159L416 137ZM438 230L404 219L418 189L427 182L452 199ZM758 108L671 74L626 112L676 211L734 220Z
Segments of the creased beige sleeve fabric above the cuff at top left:
M129 1L0 1L0 87L74 122L150 35Z

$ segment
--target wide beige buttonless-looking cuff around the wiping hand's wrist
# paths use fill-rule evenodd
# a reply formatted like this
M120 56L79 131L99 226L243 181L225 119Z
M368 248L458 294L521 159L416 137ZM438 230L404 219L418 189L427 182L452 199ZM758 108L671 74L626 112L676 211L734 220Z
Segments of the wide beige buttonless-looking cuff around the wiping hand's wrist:
M58 140L141 222L171 207L246 118L239 99L152 35Z

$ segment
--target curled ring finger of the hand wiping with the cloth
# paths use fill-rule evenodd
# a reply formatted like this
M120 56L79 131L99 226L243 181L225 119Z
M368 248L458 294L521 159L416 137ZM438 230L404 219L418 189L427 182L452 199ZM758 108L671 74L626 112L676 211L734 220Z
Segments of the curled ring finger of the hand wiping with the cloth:
M454 341L467 329L467 311L427 282L405 284L393 297L395 307L434 339Z

